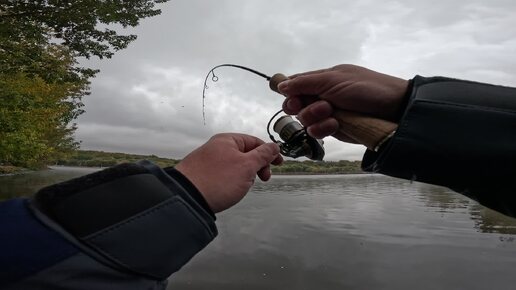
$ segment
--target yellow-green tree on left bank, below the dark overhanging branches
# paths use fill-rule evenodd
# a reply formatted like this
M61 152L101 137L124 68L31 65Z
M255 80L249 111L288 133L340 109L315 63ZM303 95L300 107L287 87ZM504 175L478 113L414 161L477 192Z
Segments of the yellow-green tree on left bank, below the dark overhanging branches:
M66 48L52 45L43 55L45 78L26 72L0 73L0 161L38 167L51 156L77 148L75 126L82 112L85 78L70 78L73 59Z

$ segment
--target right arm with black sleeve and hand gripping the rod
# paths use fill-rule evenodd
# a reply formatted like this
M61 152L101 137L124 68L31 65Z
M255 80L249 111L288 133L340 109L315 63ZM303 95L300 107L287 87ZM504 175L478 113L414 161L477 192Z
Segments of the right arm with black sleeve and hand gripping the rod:
M284 110L314 137L355 141L338 130L340 110L399 124L379 152L366 152L366 171L447 186L516 216L515 88L442 77L407 82L352 65L291 79L279 85Z

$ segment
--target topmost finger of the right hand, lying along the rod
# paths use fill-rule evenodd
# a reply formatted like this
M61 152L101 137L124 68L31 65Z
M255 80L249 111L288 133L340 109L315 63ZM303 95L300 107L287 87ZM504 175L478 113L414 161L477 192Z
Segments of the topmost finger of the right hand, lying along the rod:
M278 85L278 91L286 96L312 95L317 96L327 89L331 74L325 71L310 75L300 75L286 80Z

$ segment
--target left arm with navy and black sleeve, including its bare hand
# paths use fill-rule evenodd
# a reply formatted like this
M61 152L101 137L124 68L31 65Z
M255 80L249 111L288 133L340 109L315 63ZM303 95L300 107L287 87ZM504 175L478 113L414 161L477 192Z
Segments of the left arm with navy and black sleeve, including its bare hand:
M222 134L176 168L123 164L1 203L0 288L164 289L217 235L214 212L267 180L278 154Z

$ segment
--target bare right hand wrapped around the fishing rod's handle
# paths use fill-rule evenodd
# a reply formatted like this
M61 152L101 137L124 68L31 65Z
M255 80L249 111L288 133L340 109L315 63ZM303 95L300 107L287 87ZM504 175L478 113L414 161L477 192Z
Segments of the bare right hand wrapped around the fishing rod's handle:
M407 86L407 80L355 65L338 65L290 76L278 90L287 97L285 113L297 115L308 134L315 138L333 135L356 143L339 131L335 113L353 112L397 121Z

